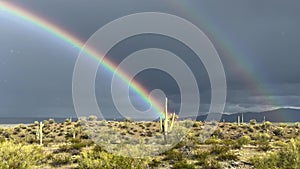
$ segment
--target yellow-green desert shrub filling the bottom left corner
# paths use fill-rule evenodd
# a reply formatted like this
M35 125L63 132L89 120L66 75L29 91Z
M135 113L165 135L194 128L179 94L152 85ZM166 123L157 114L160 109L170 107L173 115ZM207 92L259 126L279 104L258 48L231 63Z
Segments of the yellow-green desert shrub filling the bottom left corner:
M0 144L1 169L27 169L38 166L44 159L41 147L15 144L5 141Z

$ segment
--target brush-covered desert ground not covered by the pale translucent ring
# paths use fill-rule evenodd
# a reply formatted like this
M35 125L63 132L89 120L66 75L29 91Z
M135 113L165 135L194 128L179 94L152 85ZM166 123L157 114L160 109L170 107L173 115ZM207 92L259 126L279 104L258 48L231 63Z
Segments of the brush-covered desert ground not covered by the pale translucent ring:
M146 140L136 143L137 149L141 144L147 145L152 138L164 141L159 122L90 120L93 125L119 131L125 140L127 137ZM205 123L189 120L184 123L190 125L190 130L176 146L145 158L109 153L89 138L81 120L44 121L42 145L37 135L38 122L0 127L0 168L300 168L300 123L219 123L204 142L199 140ZM114 133L106 134L107 137L114 136Z

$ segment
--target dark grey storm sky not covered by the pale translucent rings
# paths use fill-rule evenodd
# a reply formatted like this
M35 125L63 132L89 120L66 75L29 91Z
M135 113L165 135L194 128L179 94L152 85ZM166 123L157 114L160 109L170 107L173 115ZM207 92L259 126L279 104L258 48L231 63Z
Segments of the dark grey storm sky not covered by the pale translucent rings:
M300 107L300 2L297 0L17 0L11 3L82 41L108 22L128 14L177 15L203 30L220 55L228 87L225 112ZM206 111L210 103L207 73L201 61L178 41L158 35L135 36L116 45L109 57L119 63L130 53L149 47L173 51L196 72L200 109ZM0 116L76 116L72 74L79 52L0 9ZM99 71L96 79L96 95L102 97L99 105L106 112L116 111L105 78L110 79L107 73ZM177 110L180 100L174 79L154 70L142 72L136 79L148 90L163 89L171 98L171 108Z

